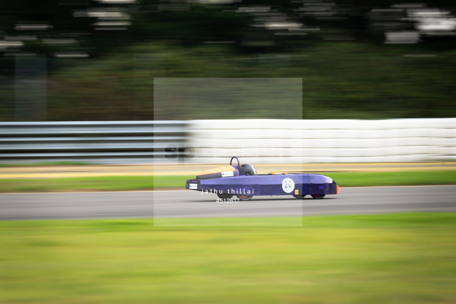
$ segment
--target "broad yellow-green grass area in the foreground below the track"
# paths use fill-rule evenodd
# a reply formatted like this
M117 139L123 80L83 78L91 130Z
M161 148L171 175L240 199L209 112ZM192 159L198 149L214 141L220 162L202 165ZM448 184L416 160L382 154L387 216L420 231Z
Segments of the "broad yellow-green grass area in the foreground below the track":
M302 227L3 221L0 303L450 304L455 239L456 213L305 217Z

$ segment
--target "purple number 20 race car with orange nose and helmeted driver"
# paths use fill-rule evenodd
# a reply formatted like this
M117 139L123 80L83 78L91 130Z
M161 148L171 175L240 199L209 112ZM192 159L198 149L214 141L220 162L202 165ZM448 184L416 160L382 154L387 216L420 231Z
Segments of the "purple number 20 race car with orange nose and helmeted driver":
M237 166L231 164L233 158ZM339 186L327 176L285 172L257 174L252 165L240 165L236 156L231 157L229 166L206 170L195 179L187 180L185 189L214 193L221 199L235 195L240 201L248 201L256 195L292 195L303 199L309 194L314 199L323 199L327 194L339 193Z

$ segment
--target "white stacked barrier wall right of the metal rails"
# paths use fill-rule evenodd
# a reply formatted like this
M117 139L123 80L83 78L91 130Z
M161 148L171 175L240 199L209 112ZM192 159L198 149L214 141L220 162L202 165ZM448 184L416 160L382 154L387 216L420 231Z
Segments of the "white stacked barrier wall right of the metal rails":
M186 162L395 162L456 160L456 118L193 120Z

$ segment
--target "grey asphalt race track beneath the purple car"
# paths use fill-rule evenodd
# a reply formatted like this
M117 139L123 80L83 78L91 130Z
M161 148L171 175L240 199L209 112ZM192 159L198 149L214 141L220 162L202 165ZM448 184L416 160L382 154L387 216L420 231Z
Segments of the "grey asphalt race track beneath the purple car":
M456 211L456 186L343 188L314 200L253 197L216 203L197 191L0 194L0 220L153 217L245 217ZM302 203L302 204L301 204Z

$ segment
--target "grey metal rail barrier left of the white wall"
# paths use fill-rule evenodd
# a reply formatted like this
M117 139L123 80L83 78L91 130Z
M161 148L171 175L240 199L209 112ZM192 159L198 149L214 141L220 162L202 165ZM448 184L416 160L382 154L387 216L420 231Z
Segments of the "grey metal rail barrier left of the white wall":
M0 163L151 163L182 157L186 121L0 122Z

